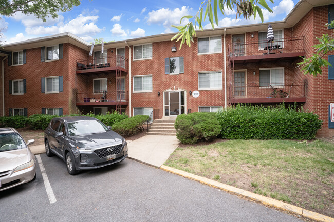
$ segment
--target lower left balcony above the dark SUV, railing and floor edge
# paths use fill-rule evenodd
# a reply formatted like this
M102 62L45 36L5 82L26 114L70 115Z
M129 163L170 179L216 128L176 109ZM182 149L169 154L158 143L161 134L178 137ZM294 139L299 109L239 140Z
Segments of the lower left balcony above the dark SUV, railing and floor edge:
M128 105L128 92L80 92L77 93L77 106Z

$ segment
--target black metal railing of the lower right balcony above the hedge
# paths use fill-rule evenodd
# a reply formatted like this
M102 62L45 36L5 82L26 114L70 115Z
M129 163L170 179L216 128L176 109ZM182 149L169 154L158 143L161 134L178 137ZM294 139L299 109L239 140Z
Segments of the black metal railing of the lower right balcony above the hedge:
M277 93L273 93L274 89ZM282 90L282 91L281 91ZM284 93L285 92L285 93ZM233 86L230 85L230 99L257 98L304 98L305 84L279 86ZM284 93L284 94L283 94Z

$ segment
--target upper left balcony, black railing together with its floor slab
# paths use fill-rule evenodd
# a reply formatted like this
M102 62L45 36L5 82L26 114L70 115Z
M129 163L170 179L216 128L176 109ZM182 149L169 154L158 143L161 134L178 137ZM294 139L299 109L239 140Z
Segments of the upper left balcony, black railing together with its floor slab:
M109 56L109 57L89 57L87 59L77 60L77 74L98 74L98 73L110 73L120 70L127 73L128 59L121 56Z

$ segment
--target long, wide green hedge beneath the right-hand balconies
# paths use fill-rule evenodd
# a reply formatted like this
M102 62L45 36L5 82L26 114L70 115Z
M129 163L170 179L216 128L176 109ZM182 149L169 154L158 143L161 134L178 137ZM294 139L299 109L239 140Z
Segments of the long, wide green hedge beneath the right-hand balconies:
M237 105L216 114L227 139L313 139L321 128L319 116L294 106Z

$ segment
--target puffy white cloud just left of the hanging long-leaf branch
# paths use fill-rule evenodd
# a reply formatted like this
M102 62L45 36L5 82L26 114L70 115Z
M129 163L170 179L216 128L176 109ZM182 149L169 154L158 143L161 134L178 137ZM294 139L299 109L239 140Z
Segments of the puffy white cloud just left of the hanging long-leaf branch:
M187 6L182 6L181 9L176 8L174 10L170 9L159 9L153 10L148 13L146 19L149 25L151 24L163 24L165 28L170 28L171 25L179 25L180 19L190 14L190 8ZM184 18L181 25L185 25L189 22L189 19Z

